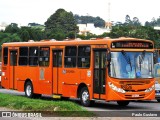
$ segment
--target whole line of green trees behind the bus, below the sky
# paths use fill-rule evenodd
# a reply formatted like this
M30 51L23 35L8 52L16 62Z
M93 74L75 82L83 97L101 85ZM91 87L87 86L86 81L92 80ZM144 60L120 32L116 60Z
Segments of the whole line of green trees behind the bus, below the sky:
M64 40L65 38L81 39L103 38L103 37L135 37L142 39L150 39L156 43L156 47L160 47L160 32L154 30L154 26L160 26L160 18L153 18L151 22L146 21L142 26L137 17L133 19L126 15L125 22L116 22L112 25L110 33L95 35L87 33L87 35L78 34L77 24L94 23L95 27L104 27L105 21L100 17L73 15L64 9L58 9L53 13L43 25L37 23L29 23L29 26L18 27L18 24L11 23L4 31L0 31L0 44L4 42L18 42L42 39ZM38 27L37 27L38 26Z

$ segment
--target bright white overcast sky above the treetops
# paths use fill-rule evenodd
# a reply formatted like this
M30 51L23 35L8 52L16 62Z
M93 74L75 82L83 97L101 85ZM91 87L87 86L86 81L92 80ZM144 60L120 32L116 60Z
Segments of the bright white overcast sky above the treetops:
M160 0L0 0L0 24L44 24L59 8L114 22L124 22L126 15L131 20L138 17L142 23L160 16Z

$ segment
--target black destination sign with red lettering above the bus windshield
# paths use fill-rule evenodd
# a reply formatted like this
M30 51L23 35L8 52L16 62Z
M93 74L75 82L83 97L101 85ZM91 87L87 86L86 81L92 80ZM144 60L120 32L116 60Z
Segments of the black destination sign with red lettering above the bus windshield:
M153 44L145 41L118 41L111 44L111 48L139 48L152 49Z

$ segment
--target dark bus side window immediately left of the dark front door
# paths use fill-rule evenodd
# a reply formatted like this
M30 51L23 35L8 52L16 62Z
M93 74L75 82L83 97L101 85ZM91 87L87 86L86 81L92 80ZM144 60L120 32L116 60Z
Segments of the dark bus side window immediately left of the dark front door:
M78 47L78 67L89 68L90 67L90 46L79 46Z

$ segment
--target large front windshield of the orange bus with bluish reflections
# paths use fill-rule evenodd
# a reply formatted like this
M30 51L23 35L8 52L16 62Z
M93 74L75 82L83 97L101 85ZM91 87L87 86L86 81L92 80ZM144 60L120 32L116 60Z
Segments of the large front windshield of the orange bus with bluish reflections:
M153 75L152 52L111 52L111 77L153 78Z

